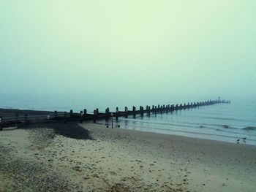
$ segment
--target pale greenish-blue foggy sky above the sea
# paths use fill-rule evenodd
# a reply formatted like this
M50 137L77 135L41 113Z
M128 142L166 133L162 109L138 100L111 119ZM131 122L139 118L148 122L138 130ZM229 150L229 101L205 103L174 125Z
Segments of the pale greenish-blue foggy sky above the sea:
M256 1L0 0L0 94L256 96Z

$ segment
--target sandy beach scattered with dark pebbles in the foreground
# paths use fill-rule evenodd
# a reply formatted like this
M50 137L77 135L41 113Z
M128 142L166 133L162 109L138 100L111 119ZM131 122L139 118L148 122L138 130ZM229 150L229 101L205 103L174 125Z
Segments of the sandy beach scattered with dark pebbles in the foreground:
M89 132L80 130L80 135L70 138L56 131L62 127ZM256 188L253 145L106 128L97 123L48 123L0 131L0 161L1 192Z

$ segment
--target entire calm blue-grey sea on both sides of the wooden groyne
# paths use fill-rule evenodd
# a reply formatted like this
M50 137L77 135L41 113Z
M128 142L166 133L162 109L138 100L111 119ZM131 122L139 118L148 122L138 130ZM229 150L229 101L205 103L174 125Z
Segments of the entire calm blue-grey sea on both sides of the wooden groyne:
M8 109L27 109L27 110L59 110L69 111L83 110L86 106L89 112L93 112L94 107L97 106L99 111L104 112L105 108L110 107L110 111L114 111L116 106L119 106L119 110L124 108L122 101L115 99L111 101L102 102L86 102L79 99L40 99L39 97L33 97L33 99L27 99L28 97L17 96L4 97L1 95L0 108ZM186 99L164 104L184 104ZM74 102L75 101L75 102ZM93 101L93 99L91 99ZM127 101L127 99L126 99ZM149 103L148 99L147 103ZM194 100L196 101L196 100ZM203 100L197 100L203 101ZM107 105L111 104L112 106ZM192 102L187 100L187 102ZM186 103L187 103L186 102ZM127 102L130 104L129 110L132 108L132 101ZM135 104L138 104L138 102ZM154 105L162 104L154 103ZM148 104L149 105L149 104ZM151 104L152 105L152 104ZM120 107L121 106L121 107ZM137 109L140 105L136 106ZM144 106L146 108L146 106ZM109 128L112 127L112 119L105 121L99 120L97 123L101 123ZM222 142L238 143L240 145L256 145L256 99L235 99L231 100L230 104L214 104L210 106L202 106L186 110L177 110L173 112L163 112L151 115L144 114L136 115L134 118L132 115L128 118L113 118L113 128L127 128L138 131L149 131L160 134L173 134L184 137L194 137L200 139L211 139Z

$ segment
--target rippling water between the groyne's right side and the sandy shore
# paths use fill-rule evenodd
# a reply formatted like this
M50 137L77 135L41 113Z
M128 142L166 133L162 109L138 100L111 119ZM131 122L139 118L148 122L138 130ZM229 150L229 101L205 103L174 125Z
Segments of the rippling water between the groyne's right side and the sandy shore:
M111 127L111 120L100 123ZM113 120L114 126L139 131L256 145L256 107L249 101ZM241 139L245 138L246 139ZM237 142L237 139L240 139Z

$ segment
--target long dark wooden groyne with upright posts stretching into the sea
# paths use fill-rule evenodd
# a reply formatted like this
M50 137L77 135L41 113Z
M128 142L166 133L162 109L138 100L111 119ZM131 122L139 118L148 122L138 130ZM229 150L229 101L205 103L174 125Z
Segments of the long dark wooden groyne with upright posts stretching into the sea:
M95 109L93 113L87 112L86 109L81 110L80 112L73 112L70 110L69 112L44 112L44 111L33 111L33 110L6 110L0 109L0 130L2 130L5 126L14 126L20 123L41 123L41 122L50 122L56 120L64 120L67 121L86 121L93 120L96 122L97 120L108 120L109 118L124 117L128 118L128 116L136 117L136 115L151 115L157 113L164 112L173 112L177 110L187 110L196 107L208 106L213 104L229 104L230 100L207 100L200 102L191 102L184 104L158 104L152 106L140 106L136 108L133 106L130 110L128 107L124 107L124 111L119 110L116 107L116 111L110 112L110 109L107 108L105 112L99 112L99 109Z

